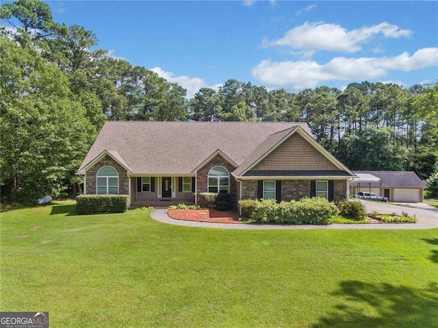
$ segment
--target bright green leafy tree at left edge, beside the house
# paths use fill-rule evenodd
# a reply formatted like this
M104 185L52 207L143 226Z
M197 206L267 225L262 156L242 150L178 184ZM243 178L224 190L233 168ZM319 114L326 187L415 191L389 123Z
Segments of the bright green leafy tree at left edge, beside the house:
M1 186L11 201L59 194L96 130L70 92L68 77L33 47L1 38Z

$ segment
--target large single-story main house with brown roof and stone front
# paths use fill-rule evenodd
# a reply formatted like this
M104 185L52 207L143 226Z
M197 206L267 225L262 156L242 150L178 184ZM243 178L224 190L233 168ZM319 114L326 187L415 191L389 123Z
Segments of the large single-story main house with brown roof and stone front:
M348 198L355 174L307 123L107 121L83 160L86 194L129 194L132 205L237 199Z

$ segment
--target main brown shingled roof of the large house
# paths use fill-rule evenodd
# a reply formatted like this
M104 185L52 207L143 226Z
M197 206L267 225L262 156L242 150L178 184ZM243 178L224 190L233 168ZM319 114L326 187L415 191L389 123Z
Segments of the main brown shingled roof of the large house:
M112 157L133 174L192 173L218 150L240 166L270 135L287 134L297 126L311 136L301 122L107 121L77 173L85 173L107 149L116 149L118 155Z

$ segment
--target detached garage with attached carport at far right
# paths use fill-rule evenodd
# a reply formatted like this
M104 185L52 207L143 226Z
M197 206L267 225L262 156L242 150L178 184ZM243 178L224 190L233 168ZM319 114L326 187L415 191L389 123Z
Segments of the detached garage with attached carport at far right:
M389 201L417 203L423 201L426 184L415 172L402 171L354 171L357 178L350 182L350 192L374 192Z

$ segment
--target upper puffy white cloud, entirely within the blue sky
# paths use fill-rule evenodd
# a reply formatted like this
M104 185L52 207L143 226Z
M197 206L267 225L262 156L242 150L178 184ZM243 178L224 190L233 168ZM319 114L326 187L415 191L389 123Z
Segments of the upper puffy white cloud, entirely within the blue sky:
M386 22L352 29L351 31L337 24L306 22L293 29L289 29L283 38L270 41L268 45L272 47L290 47L292 49L352 53L361 50L361 45L377 34L383 34L386 38L400 38L402 36L411 36L412 31L400 29L397 25L391 25Z

